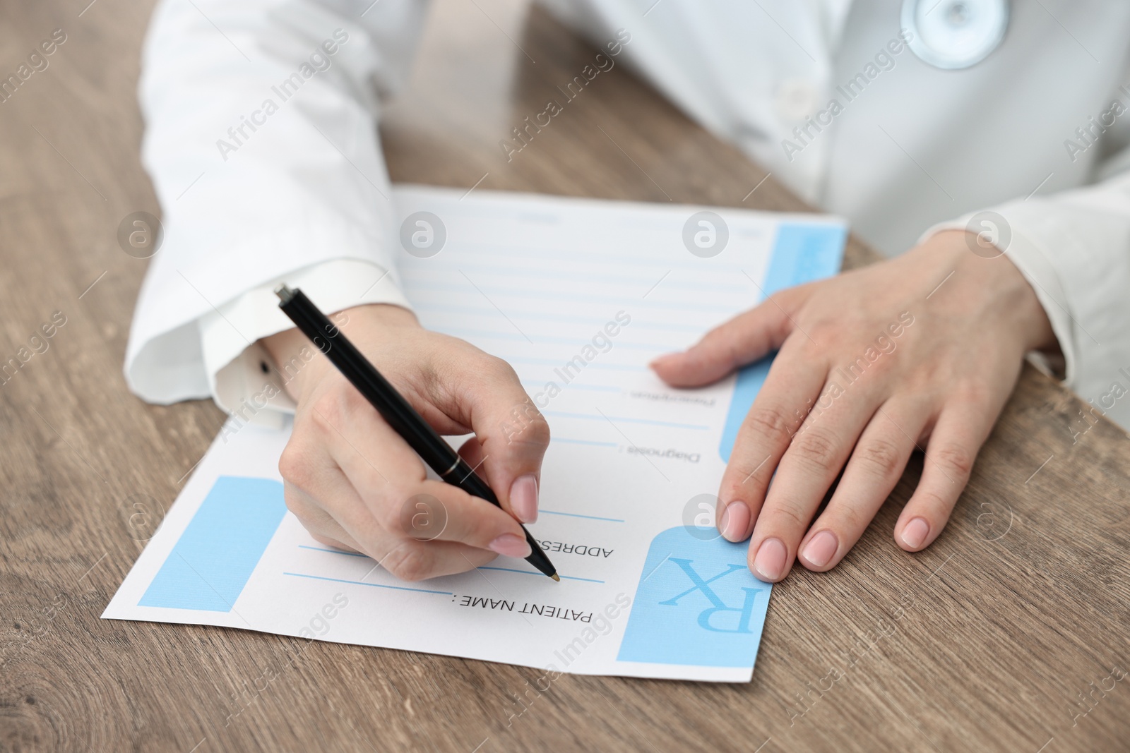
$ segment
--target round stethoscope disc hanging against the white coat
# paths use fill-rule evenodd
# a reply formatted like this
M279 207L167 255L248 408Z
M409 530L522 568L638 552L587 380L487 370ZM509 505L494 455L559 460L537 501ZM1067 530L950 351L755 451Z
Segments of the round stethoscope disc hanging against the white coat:
M937 68L956 70L984 60L1008 29L1008 0L903 0L906 46Z

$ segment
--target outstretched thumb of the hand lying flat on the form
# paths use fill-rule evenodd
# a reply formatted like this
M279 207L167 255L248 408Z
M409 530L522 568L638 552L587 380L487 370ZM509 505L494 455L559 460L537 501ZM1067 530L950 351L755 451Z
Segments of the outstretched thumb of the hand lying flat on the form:
M681 353L667 353L650 366L672 387L701 387L777 350L793 323L773 298L714 327Z

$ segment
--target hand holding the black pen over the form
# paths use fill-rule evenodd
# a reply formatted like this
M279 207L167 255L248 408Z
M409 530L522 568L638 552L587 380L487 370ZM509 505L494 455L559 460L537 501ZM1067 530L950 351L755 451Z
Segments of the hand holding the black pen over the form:
M399 306L333 318L436 431L475 434L459 452L503 509L428 479L408 444L297 330L262 341L276 364L302 364L286 385L298 405L279 459L287 508L319 542L367 554L405 580L527 557L519 522L538 515L549 427L510 365L428 332ZM303 348L308 361L296 358Z

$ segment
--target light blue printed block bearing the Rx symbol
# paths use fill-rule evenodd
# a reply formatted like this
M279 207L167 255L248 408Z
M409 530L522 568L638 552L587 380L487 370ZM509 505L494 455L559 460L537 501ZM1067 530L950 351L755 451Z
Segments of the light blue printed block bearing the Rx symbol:
M746 545L703 541L679 526L651 542L617 659L750 667L772 586L746 564Z

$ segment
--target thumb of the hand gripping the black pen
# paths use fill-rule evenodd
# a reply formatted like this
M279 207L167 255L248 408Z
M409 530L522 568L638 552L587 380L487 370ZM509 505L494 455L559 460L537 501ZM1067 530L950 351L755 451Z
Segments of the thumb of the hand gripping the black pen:
M467 371L461 412L475 437L459 453L490 485L504 510L522 523L533 523L549 424L510 365L486 359Z

